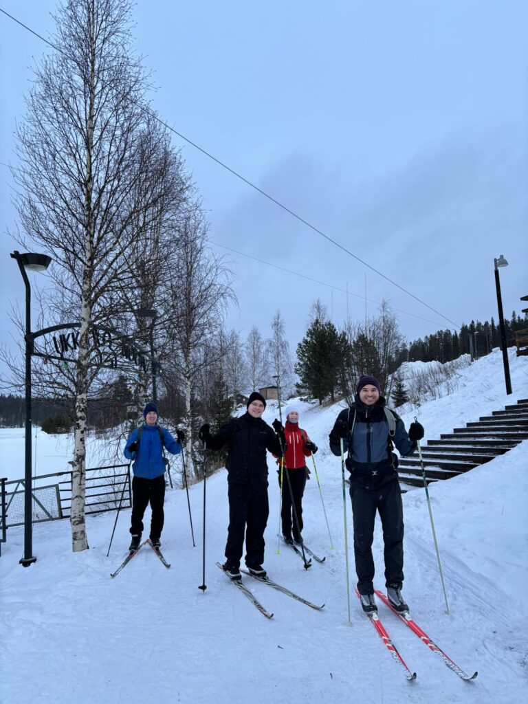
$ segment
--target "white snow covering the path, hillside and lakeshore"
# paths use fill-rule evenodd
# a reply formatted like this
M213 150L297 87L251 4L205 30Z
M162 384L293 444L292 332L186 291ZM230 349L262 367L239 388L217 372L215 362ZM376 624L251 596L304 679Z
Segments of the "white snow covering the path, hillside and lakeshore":
M528 359L510 358L514 394L503 387L502 358L493 353L460 372L458 391L421 406L426 437L528 398ZM446 615L425 491L403 496L406 520L404 594L415 620L468 672L461 681L394 615L379 615L417 680L409 683L391 659L353 594L347 623L341 466L327 450L337 406L300 404L301 426L320 445L315 455L334 549L312 472L304 500L306 543L327 555L310 570L294 553L277 554L279 494L270 458L270 520L265 567L277 582L325 603L316 612L264 584L251 589L275 613L266 620L215 567L227 533L225 470L207 482L206 585L202 584L203 484L187 498L169 491L165 503L165 570L143 550L118 577L130 511L88 518L90 550L70 551L68 521L34 526L37 562L24 569L23 529L8 530L0 558L0 701L2 704L165 703L479 703L527 700L528 441L490 463L429 489L451 615ZM403 409L406 410L406 409ZM268 403L265 420L275 417ZM414 411L403 413L406 425ZM0 476L23 476L23 431L0 430ZM37 473L68 467L63 439L37 432ZM180 460L175 460L179 462ZM351 512L346 496L348 545ZM148 518L148 512L147 512ZM375 536L377 586L382 589L382 536ZM249 580L249 578L248 578Z

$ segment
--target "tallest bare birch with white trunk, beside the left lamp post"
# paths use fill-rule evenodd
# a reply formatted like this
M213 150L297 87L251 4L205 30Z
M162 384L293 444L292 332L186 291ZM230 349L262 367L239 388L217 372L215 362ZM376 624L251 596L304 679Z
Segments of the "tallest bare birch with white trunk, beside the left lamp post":
M91 331L94 323L112 317L106 303L130 264L135 225L149 218L160 197L148 186L151 156L158 150L144 139L146 80L131 55L130 2L65 0L55 19L56 50L35 71L27 115L17 130L20 167L13 177L23 230L54 257L58 287L69 295L70 311L80 322L71 524L73 550L81 551L88 547Z

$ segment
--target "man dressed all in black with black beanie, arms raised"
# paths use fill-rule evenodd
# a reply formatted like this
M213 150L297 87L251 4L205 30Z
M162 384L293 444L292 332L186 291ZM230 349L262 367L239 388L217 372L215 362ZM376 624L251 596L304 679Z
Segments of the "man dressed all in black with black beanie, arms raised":
M202 425L201 441L209 450L220 450L229 445L227 455L227 482L230 502L230 524L223 565L228 577L241 579L240 560L244 551L246 532L246 565L252 574L265 577L264 531L270 513L268 503L268 464L266 451L282 457L284 429L278 420L273 429L260 417L265 409L265 398L253 391L247 403L247 412L232 418L211 435L209 424ZM282 442L282 446L281 446Z

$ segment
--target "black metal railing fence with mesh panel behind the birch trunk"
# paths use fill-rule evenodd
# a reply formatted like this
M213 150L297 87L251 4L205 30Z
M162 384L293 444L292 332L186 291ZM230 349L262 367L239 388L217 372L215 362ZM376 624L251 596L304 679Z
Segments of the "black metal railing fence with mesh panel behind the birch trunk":
M113 470L108 473L108 470ZM121 470L121 471L116 471ZM56 479L56 482L53 482ZM56 472L40 474L32 478L32 522L69 518L72 505L73 472ZM47 480L43 484L43 480ZM6 529L24 524L25 480L0 479L1 513L0 535L6 540ZM106 465L86 470L85 513L94 514L103 511L132 506L132 487L130 485L130 465Z

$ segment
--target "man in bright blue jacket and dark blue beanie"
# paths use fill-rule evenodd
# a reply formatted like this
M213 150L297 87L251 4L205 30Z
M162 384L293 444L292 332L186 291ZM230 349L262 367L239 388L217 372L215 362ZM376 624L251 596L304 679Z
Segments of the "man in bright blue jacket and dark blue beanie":
M155 548L161 546L161 531L165 514L163 503L165 501L165 458L163 447L172 455L182 451L185 440L184 433L177 432L175 440L166 428L158 425L158 406L156 403L147 403L143 417L144 425L132 430L125 446L125 457L134 460L132 468L132 542L129 550L139 548L143 532L143 515L146 507L151 505L151 532L150 540ZM162 446L163 442L163 446Z

